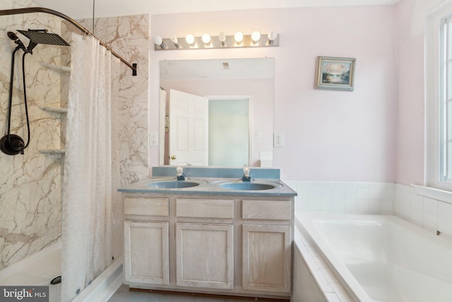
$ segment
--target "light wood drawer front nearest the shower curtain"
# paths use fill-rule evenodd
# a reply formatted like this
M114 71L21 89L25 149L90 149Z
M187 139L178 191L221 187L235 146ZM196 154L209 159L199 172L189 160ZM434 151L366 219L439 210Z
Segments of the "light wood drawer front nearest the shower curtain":
M168 216L167 198L124 198L124 215Z

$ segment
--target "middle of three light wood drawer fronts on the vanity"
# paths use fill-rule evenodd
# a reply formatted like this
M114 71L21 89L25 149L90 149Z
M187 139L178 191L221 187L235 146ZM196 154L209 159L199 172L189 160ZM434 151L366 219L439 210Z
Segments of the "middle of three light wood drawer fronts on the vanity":
M233 219L234 200L176 199L176 216Z

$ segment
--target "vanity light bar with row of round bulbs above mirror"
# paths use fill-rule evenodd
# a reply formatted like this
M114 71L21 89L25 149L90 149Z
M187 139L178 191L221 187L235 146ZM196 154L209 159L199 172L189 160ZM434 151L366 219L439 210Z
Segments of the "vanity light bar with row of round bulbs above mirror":
M154 50L208 50L220 48L244 48L244 47L271 47L280 45L280 36L277 33L270 32L268 35L243 35L241 42L234 39L234 35L224 35L220 33L218 36L210 36L208 41L206 34L203 37L194 37L194 35L187 35L187 37L170 37L162 39L157 36L154 38ZM235 34L237 37L237 33ZM258 39L256 39L258 37ZM253 40L256 40L256 42ZM273 40L270 40L273 39ZM189 42L193 42L189 44ZM224 40L224 42L222 42Z

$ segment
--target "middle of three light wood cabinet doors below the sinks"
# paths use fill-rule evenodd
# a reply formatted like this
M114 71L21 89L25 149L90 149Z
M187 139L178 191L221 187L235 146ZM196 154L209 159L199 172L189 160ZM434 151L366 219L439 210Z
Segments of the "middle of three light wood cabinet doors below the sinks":
M232 289L233 229L230 224L177 223L177 285Z

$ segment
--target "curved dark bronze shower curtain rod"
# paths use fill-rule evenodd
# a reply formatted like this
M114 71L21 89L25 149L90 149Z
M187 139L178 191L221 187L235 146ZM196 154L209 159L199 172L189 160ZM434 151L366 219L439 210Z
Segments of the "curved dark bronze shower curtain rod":
M102 45L103 47L107 48L107 50L112 52L114 57L117 57L118 59L121 60L121 62L123 62L124 64L129 66L129 68L132 69L132 75L136 76L136 66L137 66L136 63L130 64L129 62L127 62L123 57L121 57L119 54L114 52L112 50L112 47L109 47L108 45L106 45L99 38L97 38L93 33L90 33L89 30L84 28L80 23L73 20L73 18L66 16L64 13L60 13L59 11L54 11L53 9L44 8L44 7L13 8L13 9L0 10L0 16L18 15L20 13L50 13L51 15L63 18L64 20L68 21L69 23L74 25L76 28L78 28L78 30L81 30L85 35L92 35L93 37L95 37L99 41L100 45Z

